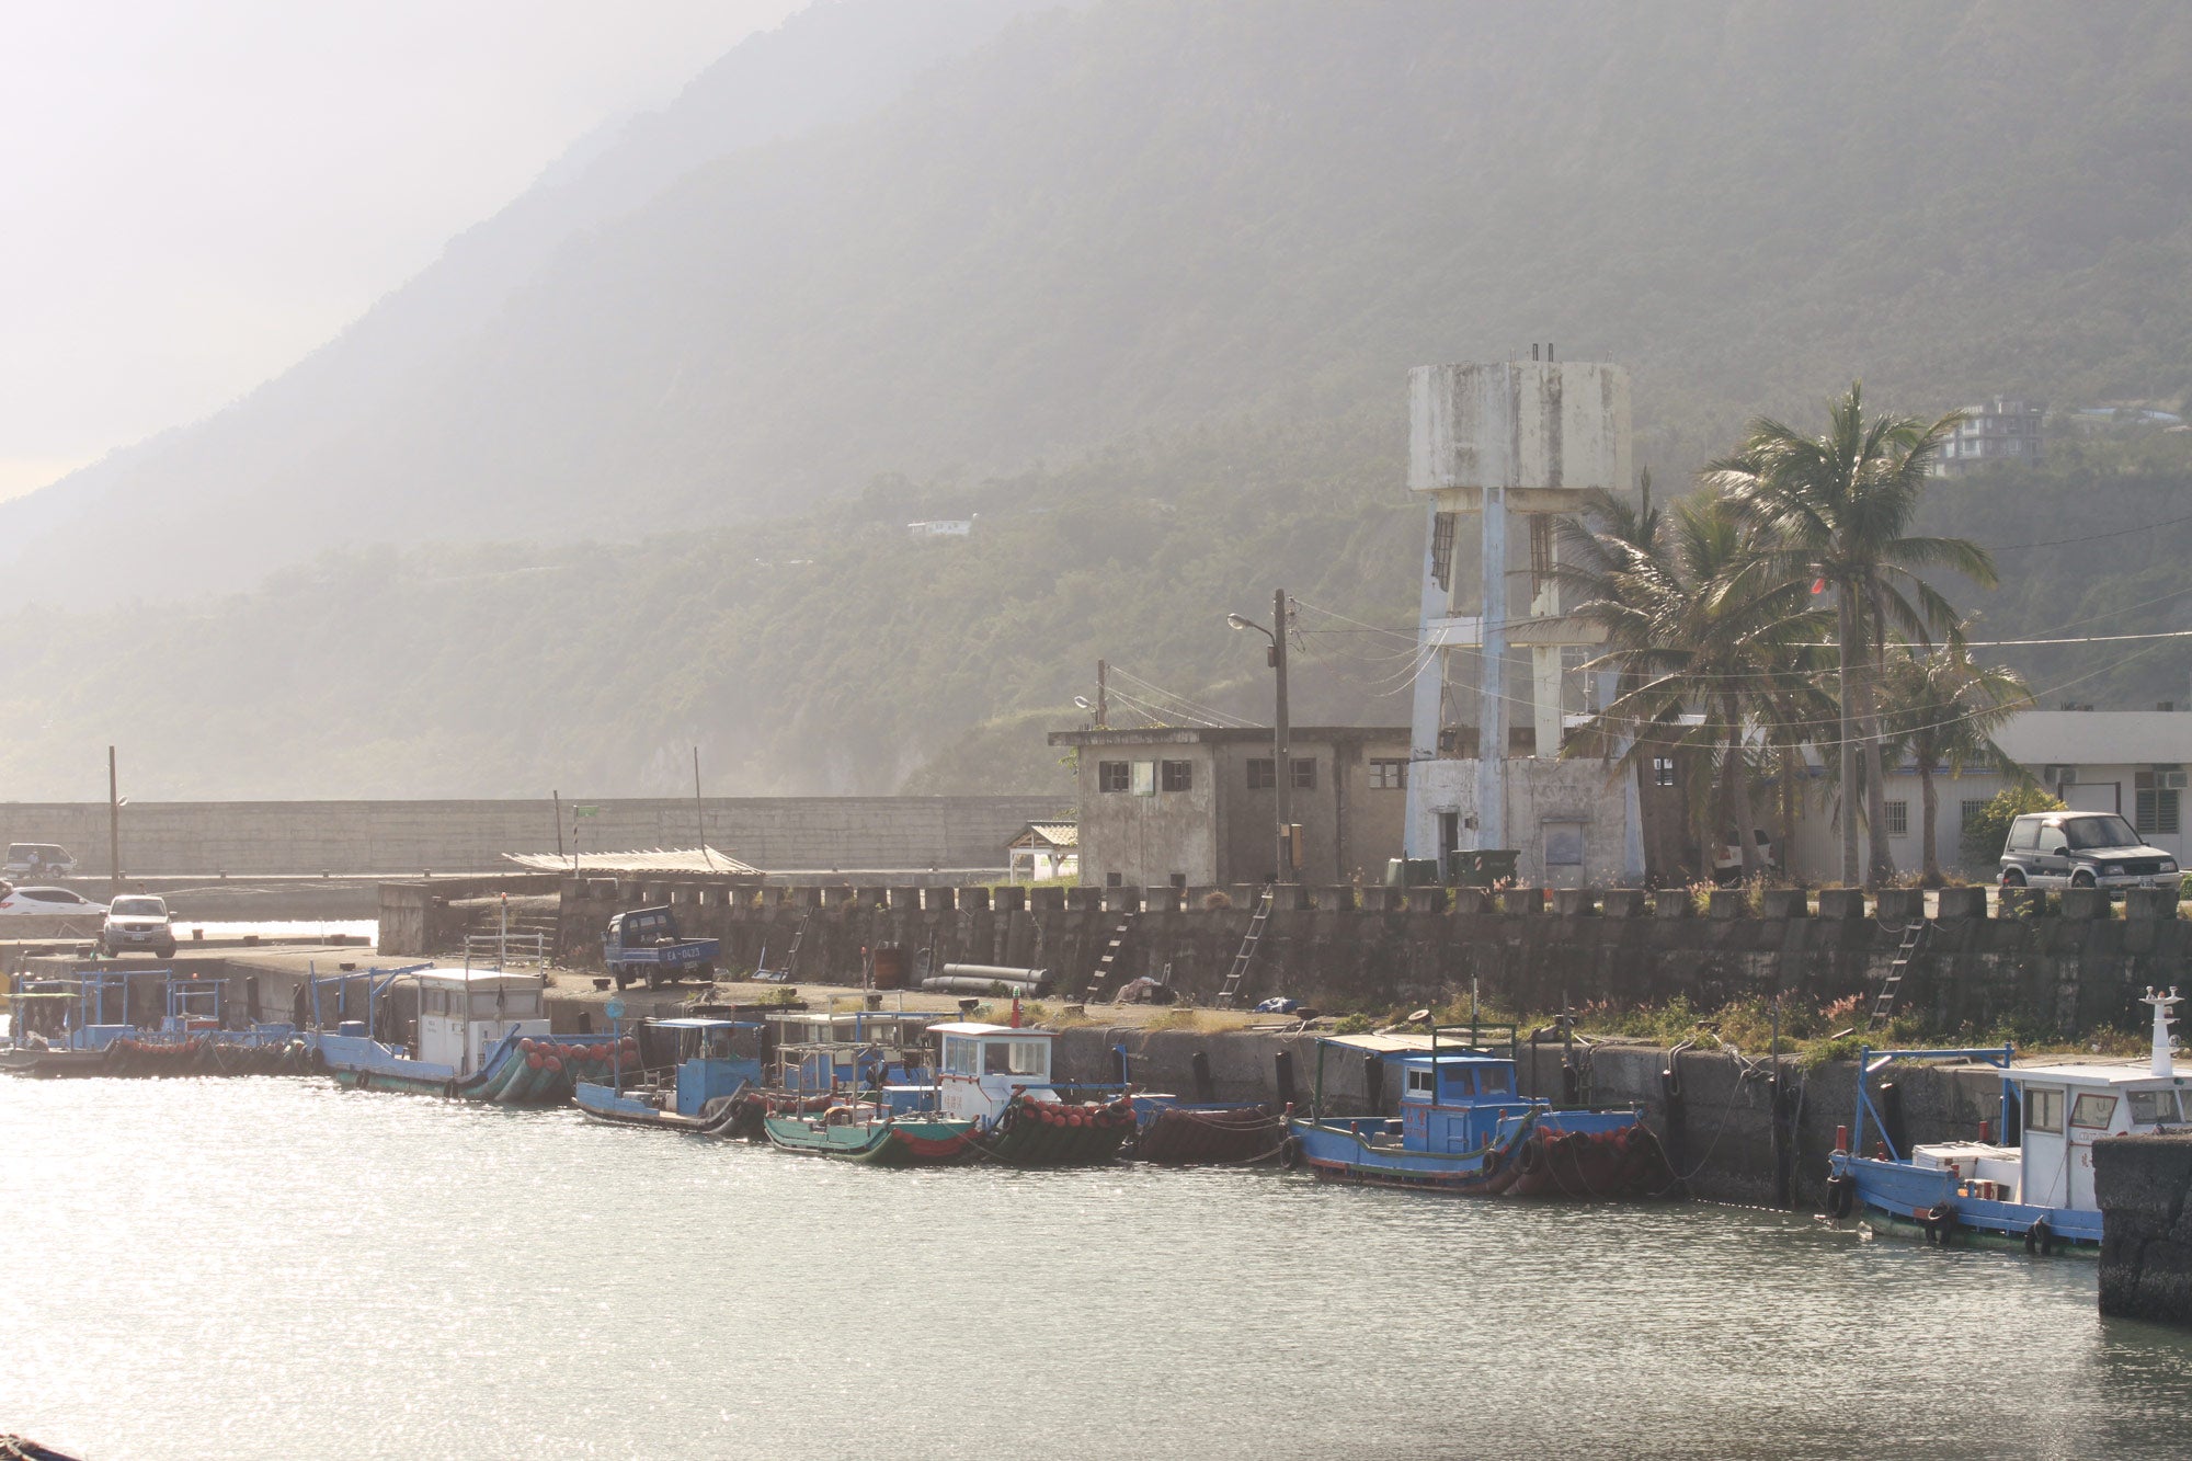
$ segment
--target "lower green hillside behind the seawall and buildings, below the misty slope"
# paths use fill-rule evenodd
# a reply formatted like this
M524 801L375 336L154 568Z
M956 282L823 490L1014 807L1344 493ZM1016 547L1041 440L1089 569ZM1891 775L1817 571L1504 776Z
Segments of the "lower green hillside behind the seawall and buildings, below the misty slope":
M1236 421L978 485L879 478L754 529L366 551L186 610L42 621L0 662L0 794L103 794L107 741L140 799L677 794L693 744L710 794L1070 794L1043 733L1083 724L1098 658L1269 717L1260 641L1223 614L1263 619L1276 586L1302 601L1295 720L1405 724L1423 513L1398 448L1366 419ZM2192 627L2192 597L2166 597L2192 522L2003 551L2181 518L2188 487L2188 434L2098 443L1940 483L1925 529L1997 544L1999 592L1944 584L1988 634ZM969 513L967 540L903 526ZM2148 706L2192 671L2192 641L1982 656L2041 704Z

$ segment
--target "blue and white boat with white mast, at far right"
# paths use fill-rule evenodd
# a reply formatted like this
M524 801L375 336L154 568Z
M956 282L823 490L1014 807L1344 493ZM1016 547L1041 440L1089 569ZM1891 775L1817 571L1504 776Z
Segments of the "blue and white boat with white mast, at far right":
M2177 1064L2170 1040L2177 992L2148 989L2144 1003L2155 1011L2146 1064L2017 1066L2017 1051L2006 1044L1861 1051L1857 1110L1850 1128L1835 1132L1828 1158L1828 1215L1938 1244L2096 1255L2093 1141L2192 1128L2192 1066ZM1909 1152L1898 1152L1872 1099L1872 1077L1900 1060L1999 1071L1999 1114L1979 1121L1975 1141L1911 1143Z

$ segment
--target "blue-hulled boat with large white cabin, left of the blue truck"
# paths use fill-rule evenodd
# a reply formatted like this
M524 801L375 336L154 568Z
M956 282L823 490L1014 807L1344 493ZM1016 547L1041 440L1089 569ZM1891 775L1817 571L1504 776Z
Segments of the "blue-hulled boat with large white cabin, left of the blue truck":
M552 1106L570 1099L574 1081L607 1073L616 1057L598 1038L550 1033L541 1011L548 981L539 974L434 965L331 974L313 978L313 1009L322 985L353 978L366 985L366 1018L305 1035L313 1068L351 1090ZM373 1033L397 981L412 981L419 989L412 1042Z

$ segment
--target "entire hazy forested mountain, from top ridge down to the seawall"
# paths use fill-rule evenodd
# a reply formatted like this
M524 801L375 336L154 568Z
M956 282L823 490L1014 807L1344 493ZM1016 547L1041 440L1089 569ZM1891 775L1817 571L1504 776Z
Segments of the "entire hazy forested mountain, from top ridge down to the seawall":
M1263 717L1223 614L1274 586L1295 717L1401 722L1409 364L1620 360L1664 487L1859 373L2174 401L2185 75L2161 0L844 0L0 507L0 796L101 792L110 739L138 796L680 790L693 741L726 794L1037 790L1096 658ZM1944 485L2003 546L1951 597L2185 623L2183 524L2060 544L2177 518L2183 441ZM2003 658L2185 693L2166 641Z

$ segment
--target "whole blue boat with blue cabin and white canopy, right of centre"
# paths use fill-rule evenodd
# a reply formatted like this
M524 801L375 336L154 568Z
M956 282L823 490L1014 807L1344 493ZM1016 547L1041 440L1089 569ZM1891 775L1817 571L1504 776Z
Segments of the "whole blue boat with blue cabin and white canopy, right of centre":
M1331 1035L1317 1042L1313 1117L1287 1121L1287 1165L1335 1182L1460 1196L1648 1198L1675 1187L1659 1141L1637 1106L1554 1106L1515 1088L1515 1031L1506 1053L1442 1044L1451 1031ZM1401 1114L1324 1112L1328 1049L1368 1055L1372 1090L1401 1066Z

